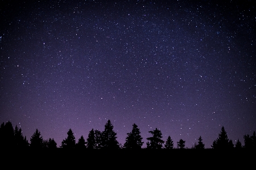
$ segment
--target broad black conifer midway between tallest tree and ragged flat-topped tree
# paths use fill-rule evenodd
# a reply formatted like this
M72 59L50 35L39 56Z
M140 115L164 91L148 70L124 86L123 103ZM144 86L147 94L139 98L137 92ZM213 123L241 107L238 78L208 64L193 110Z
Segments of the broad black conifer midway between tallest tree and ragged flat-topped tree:
M139 131L138 126L133 124L133 129L130 133L127 133L127 137L125 139L124 148L129 149L140 149L144 142L142 142L141 131Z

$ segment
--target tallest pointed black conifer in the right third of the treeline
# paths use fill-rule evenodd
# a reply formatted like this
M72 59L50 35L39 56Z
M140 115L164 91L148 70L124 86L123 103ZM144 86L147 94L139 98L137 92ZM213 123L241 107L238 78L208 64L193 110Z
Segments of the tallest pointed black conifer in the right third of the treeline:
M224 126L221 128L221 133L218 134L218 138L213 141L212 148L225 149L229 148L229 139Z

